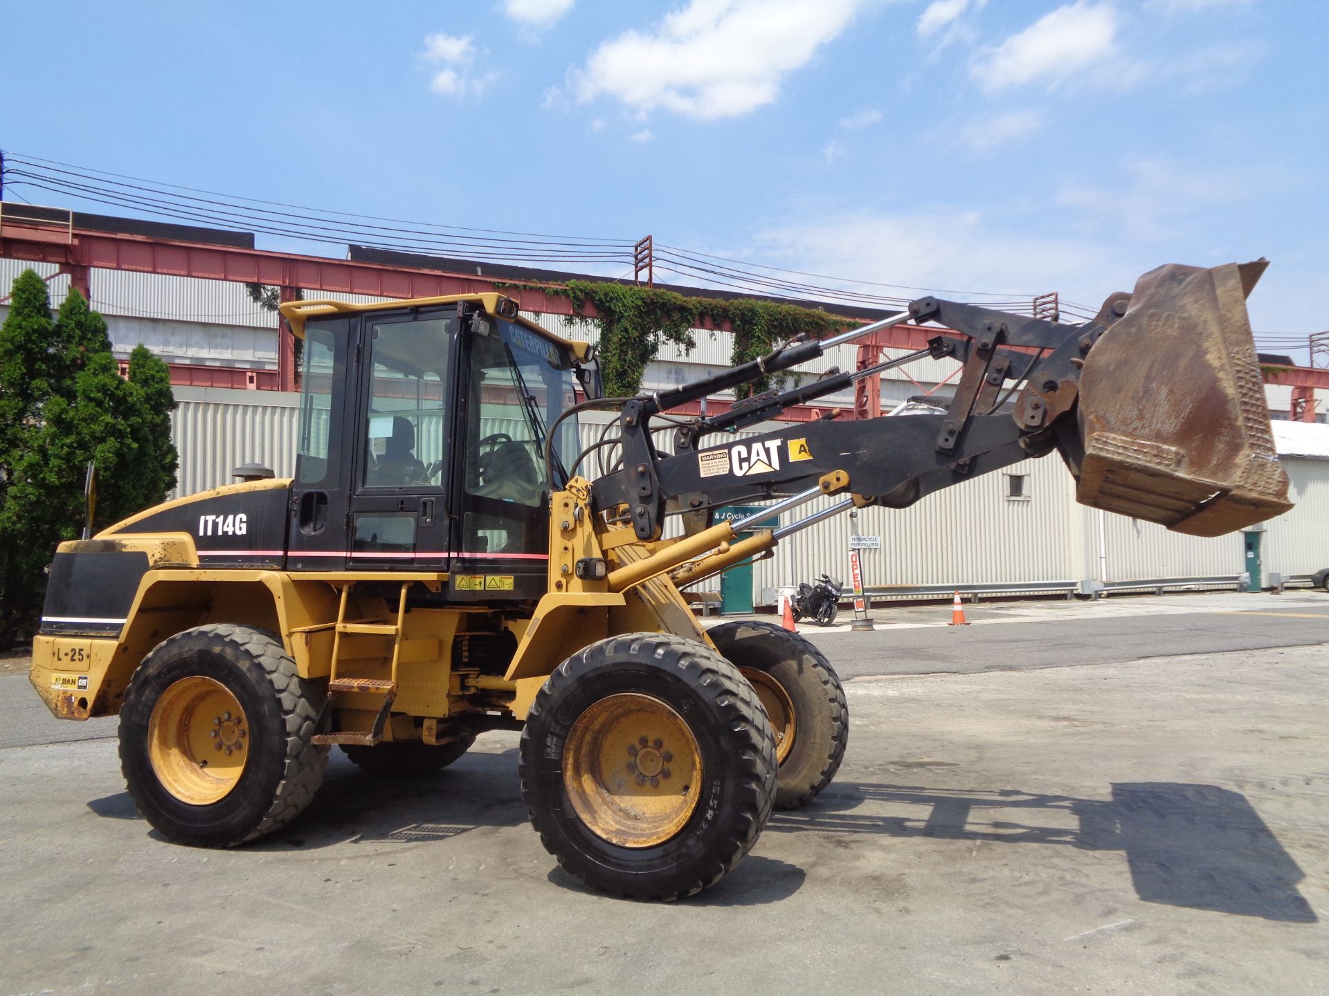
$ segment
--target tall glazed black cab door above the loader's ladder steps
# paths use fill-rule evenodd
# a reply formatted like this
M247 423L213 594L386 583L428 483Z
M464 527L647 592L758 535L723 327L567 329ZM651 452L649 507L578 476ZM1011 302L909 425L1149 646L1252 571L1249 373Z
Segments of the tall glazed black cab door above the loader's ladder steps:
M456 308L365 315L348 525L355 570L448 570Z

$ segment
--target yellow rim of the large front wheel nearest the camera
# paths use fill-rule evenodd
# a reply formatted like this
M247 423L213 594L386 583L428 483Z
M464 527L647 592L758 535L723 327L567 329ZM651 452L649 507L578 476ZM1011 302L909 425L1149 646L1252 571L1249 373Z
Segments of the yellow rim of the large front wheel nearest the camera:
M651 847L679 833L696 810L700 781L696 737L659 699L607 696L567 733L567 801L582 823L621 847Z

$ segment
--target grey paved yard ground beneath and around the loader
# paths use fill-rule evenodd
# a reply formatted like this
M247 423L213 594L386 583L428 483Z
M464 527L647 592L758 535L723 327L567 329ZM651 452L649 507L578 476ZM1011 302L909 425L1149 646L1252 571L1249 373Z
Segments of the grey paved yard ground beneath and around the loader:
M1329 598L942 611L811 633L840 776L668 906L557 870L516 734L413 782L334 756L296 823L203 851L138 817L113 720L0 675L0 996L1329 989Z

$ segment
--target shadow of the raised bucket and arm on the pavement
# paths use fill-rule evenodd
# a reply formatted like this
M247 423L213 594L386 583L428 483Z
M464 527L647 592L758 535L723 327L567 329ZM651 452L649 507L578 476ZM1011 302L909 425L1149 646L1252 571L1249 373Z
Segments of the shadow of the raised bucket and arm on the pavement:
M874 813L853 811L864 803ZM983 810L998 818L985 819ZM1011 810L1026 822L1007 819ZM1039 814L1062 825L1039 825ZM1017 789L836 782L808 809L776 813L767 826L767 833L793 830L1118 850L1126 854L1135 894L1147 903L1285 923L1318 920L1297 891L1305 874L1292 855L1245 795L1216 785L1120 782L1104 801Z

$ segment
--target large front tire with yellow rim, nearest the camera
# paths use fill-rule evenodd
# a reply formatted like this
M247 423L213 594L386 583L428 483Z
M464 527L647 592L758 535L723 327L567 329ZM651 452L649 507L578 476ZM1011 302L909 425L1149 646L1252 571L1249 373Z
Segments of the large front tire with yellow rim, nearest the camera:
M668 633L593 643L545 681L521 734L521 793L585 884L679 899L720 879L771 815L775 737L752 687Z

